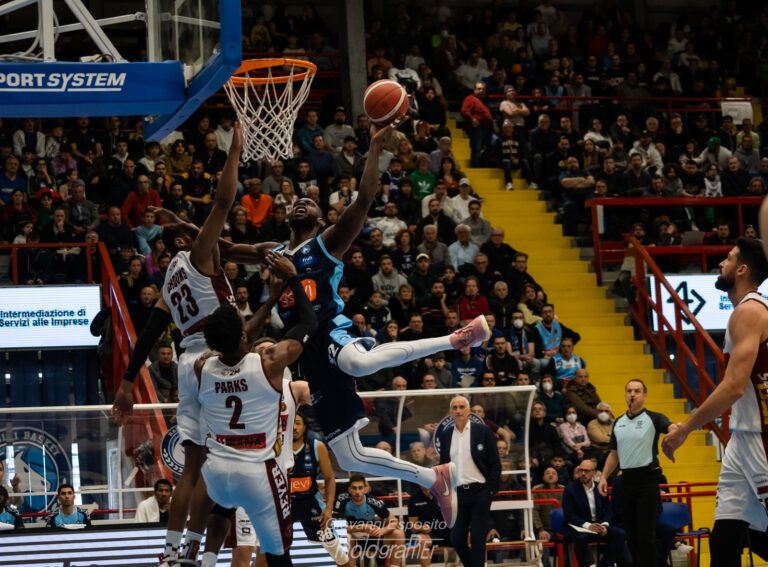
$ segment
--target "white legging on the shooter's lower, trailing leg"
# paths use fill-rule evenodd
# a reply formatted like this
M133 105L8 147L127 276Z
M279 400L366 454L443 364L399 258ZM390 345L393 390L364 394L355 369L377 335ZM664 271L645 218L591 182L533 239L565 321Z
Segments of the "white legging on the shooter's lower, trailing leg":
M381 449L363 447L357 431L337 437L331 441L330 447L339 466L345 471L395 477L426 488L432 488L437 480L432 469L401 461Z

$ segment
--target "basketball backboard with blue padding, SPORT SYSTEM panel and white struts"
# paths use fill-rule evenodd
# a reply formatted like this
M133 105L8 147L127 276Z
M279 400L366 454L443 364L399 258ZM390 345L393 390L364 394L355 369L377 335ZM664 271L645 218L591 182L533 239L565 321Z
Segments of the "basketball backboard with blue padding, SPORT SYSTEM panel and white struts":
M240 0L146 0L146 13L96 20L82 0L63 0L77 23L60 25L51 0L12 0L0 16L37 5L38 28L0 36L0 101L6 117L145 116L144 137L180 126L240 66ZM146 23L146 60L128 62L107 26ZM61 33L85 30L101 55L64 61ZM24 53L3 44L29 41Z

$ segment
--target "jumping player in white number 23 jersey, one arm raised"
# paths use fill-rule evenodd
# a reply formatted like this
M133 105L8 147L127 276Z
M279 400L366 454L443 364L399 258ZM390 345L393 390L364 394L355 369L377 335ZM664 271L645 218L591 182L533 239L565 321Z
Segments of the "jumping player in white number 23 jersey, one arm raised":
M219 305L234 303L234 294L221 271L218 241L237 194L237 167L241 148L242 132L240 125L236 124L211 212L199 232L184 225L163 227L163 242L175 257L163 283L163 296L155 304L144 331L134 345L131 360L112 406L115 419L125 423L133 408L133 380L157 337L172 320L181 329L184 335L182 345L186 347L186 352L179 357L177 410L178 430L185 447L185 462L171 502L161 566L170 565L178 557L191 495L205 455L205 429L199 420L193 364L205 349L202 336L205 317ZM188 540L197 538L199 541L201 537L196 533L187 533Z

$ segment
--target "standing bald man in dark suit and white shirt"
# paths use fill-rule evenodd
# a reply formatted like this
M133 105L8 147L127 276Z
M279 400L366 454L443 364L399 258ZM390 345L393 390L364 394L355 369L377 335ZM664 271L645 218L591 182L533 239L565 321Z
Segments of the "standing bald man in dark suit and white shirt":
M470 421L469 400L456 396L451 400L453 427L440 436L440 463L453 463L458 469L456 524L451 542L464 567L485 565L485 540L491 517L491 499L499 490L501 462L496 438L477 416ZM467 533L472 549L467 545Z

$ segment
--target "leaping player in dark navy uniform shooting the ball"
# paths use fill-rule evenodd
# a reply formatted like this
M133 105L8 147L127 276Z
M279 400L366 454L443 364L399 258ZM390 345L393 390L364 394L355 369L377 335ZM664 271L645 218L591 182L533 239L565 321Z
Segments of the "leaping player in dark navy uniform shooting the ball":
M322 211L308 198L296 201L289 215L289 246L276 248L290 258L320 320L319 331L305 345L299 364L309 382L317 420L339 465L347 471L391 476L419 484L435 495L445 521L456 521L455 465L446 463L425 468L396 459L386 451L363 447L358 430L368 420L363 402L355 391L355 378L448 349L481 344L490 336L485 317L480 316L451 335L387 343L376 346L372 338L356 338L348 333L352 322L341 315L344 306L337 287L342 277L342 256L365 225L379 181L378 159L383 143L399 122L391 126L371 126L371 144L360 182L357 200L339 220L318 236ZM242 246L242 245L241 245ZM255 249L254 254L260 251ZM233 261L253 263L253 254L228 254ZM286 289L277 302L283 322L296 321L294 297Z

